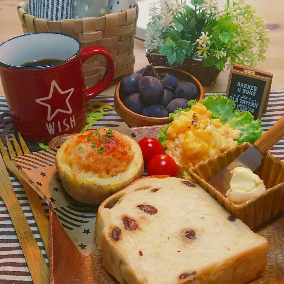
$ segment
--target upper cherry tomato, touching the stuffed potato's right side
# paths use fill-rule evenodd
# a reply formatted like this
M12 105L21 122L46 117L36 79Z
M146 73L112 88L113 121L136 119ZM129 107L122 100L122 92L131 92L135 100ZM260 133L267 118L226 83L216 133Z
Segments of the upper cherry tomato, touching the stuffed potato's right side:
M144 138L138 142L143 155L144 165L147 166L147 164L150 162L150 160L158 155L158 154L164 154L164 149L162 144L159 140L155 138Z

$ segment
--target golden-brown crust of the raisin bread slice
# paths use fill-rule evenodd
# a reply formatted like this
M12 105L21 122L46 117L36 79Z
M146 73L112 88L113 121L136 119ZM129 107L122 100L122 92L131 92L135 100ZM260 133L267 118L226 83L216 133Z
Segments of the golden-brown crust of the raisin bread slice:
M139 184L141 180L153 178L145 177L132 183ZM141 188L143 189L143 188ZM131 191L134 191L132 188ZM131 192L128 187L118 193L110 196L99 207L96 219L96 242L102 251L103 267L112 274L120 284L147 284L146 279L138 279L137 274L126 263L123 254L117 251L115 241L110 237L110 231L104 230L105 208L111 208L121 197ZM196 275L186 277L183 280L177 279L172 284L245 284L259 276L264 272L267 265L267 254L269 243L262 236L261 245L254 247L248 251L227 258L220 264L210 265L200 271L196 271ZM123 232L120 240L123 240Z

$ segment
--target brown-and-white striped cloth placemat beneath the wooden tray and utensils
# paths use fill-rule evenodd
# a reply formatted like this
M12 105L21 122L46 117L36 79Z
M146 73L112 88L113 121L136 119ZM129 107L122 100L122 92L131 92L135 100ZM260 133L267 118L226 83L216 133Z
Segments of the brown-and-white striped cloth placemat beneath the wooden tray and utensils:
M224 94L224 93L222 93ZM207 94L208 95L208 94ZM113 106L113 96L99 96L97 100L104 104ZM262 124L264 131L268 130L278 119L284 114L284 90L271 91L267 113L262 116ZM10 123L9 109L4 97L0 98L0 136L4 142L4 133L9 133L8 137L12 139L13 131ZM27 141L31 152L40 150L38 145ZM271 153L278 159L284 160L284 139L277 143ZM43 248L43 244L38 233L38 229L33 219L28 199L25 191L18 181L10 175L12 185L16 196L22 206L23 212L30 225L30 228L35 236L38 246L47 261L47 257ZM48 214L49 207L43 200L43 207ZM0 284L28 284L33 283L28 266L25 261L20 243L17 239L11 218L9 217L7 208L0 199Z

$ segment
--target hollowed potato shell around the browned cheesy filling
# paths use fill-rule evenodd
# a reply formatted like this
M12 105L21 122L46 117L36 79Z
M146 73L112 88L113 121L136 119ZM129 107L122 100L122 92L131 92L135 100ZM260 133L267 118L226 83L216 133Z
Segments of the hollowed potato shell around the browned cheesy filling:
M115 132L115 131L114 131ZM124 135L131 143L136 143L132 138L127 135ZM60 179L62 180L62 184L67 191L67 193L72 196L74 199L88 203L88 204L101 204L107 197L111 196L112 194L116 193L117 191L125 188L133 180L137 180L142 177L144 172L144 164L143 164L143 157L142 152L140 153L140 160L138 161L138 169L136 172L121 180L119 184L108 184L108 185L100 185L95 184L87 181L78 180L74 177L74 175L67 172L64 167L62 166L62 155L64 151L64 146L67 145L68 140L63 143L63 145L57 151L55 165L57 168L57 172L59 174ZM64 145L65 144L65 145ZM137 148L140 149L138 146ZM141 150L140 150L141 151Z

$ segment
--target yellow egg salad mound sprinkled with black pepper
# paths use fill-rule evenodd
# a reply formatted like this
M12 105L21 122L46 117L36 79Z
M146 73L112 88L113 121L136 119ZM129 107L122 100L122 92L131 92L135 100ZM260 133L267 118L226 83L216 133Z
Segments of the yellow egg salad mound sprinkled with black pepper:
M212 112L196 103L189 112L181 112L167 130L166 154L185 170L232 149L240 130L219 119L209 119Z

